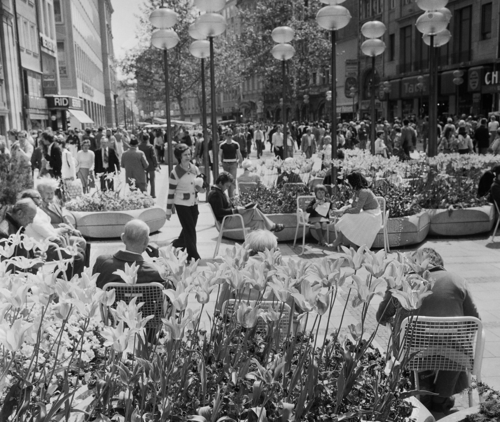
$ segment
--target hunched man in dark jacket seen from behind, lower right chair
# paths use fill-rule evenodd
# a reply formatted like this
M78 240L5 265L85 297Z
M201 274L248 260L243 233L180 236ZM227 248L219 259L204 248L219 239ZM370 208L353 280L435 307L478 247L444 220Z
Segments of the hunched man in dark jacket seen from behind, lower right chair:
M418 310L419 316L473 316L479 318L479 313L472 300L472 296L463 278L448 272L443 267L442 257L434 249L422 248L430 260L428 268L434 278L432 294L422 300ZM409 316L411 311L406 311L387 288L383 300L378 305L376 319L380 324L388 322L392 316L394 330L399 332L402 319ZM415 311L416 314L416 311ZM452 345L450 345L452 347ZM453 394L457 394L468 385L466 372L439 370L437 375L433 371L419 372L420 389L435 392L437 396L422 396L425 405L437 412L447 411L454 405ZM432 380L434 381L432 382Z

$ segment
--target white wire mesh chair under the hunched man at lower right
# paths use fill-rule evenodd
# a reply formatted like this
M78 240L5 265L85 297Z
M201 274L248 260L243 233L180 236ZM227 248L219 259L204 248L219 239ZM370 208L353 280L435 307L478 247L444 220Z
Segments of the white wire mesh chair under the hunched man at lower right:
M408 363L408 369L415 374L415 389L419 389L417 372L422 370L467 372L469 380L472 375L481 380L485 333L480 319L407 317L401 322L399 335L402 353L418 352ZM469 406L472 406L472 392L469 392Z

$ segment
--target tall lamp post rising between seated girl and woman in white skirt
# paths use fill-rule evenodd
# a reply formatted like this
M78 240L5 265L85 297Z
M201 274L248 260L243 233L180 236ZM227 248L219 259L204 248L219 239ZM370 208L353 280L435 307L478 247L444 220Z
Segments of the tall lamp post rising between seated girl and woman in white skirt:
M316 13L316 22L324 29L331 31L331 185L337 185L337 168L333 160L337 158L337 87L335 62L335 31L347 26L351 15L349 10L337 3L344 0L321 0L328 4L321 7Z

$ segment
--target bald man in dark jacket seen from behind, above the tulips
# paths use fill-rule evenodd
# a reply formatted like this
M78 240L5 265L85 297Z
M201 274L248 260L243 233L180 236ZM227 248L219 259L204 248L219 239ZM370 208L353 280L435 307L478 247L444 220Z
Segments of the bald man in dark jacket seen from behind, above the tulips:
M163 284L156 267L145 262L142 252L148 248L149 227L144 221L134 219L125 224L125 230L121 233L121 240L125 243L125 250L118 250L114 255L97 256L92 268L92 274L99 273L96 280L97 287L102 288L109 282L123 282L121 277L113 274L114 271L124 270L125 263L135 263L139 267L137 271L137 283L149 283L157 281Z

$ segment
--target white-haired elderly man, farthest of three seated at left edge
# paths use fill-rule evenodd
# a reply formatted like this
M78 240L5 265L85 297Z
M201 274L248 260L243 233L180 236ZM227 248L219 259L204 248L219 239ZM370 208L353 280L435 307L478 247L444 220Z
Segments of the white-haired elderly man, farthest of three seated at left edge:
M51 177L38 179L36 189L41 196L39 207L50 217L50 223L53 227L66 229L64 234L69 236L70 244L76 244L78 248L84 251L87 242L81 237L81 232L67 222L63 209L55 197L57 187L57 181Z

